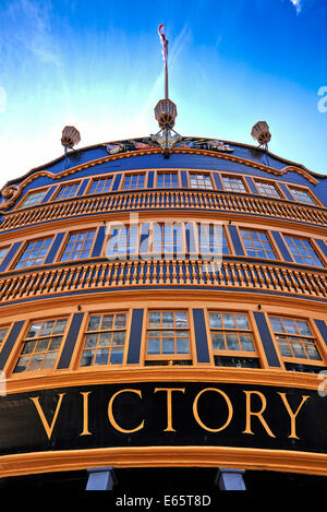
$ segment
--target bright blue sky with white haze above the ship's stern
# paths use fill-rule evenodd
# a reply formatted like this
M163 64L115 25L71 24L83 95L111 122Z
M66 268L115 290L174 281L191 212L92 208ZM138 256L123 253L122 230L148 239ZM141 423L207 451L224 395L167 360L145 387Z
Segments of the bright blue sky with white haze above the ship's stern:
M158 131L157 33L175 130L255 144L327 174L326 0L0 0L0 187L63 153ZM325 111L326 110L326 111Z

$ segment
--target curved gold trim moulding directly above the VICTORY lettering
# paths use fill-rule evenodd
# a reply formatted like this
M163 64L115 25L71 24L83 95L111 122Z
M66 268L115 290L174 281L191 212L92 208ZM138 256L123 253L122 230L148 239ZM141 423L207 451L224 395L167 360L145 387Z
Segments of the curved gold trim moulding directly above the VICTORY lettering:
M9 377L7 394L29 393L39 390L76 388L80 385L133 384L150 382L210 382L213 384L265 385L296 390L318 390L322 379L317 373L287 371L282 368L213 367L197 364L194 367L144 367L129 365L124 368L49 370L41 374Z

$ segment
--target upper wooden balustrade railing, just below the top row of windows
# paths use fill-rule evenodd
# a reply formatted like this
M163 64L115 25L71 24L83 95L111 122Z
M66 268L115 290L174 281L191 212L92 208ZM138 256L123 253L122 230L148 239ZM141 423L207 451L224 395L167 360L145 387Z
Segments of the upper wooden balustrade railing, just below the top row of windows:
M327 225L327 210L222 191L144 190L113 192L40 204L4 215L0 230L88 214L144 210L205 210L246 213Z

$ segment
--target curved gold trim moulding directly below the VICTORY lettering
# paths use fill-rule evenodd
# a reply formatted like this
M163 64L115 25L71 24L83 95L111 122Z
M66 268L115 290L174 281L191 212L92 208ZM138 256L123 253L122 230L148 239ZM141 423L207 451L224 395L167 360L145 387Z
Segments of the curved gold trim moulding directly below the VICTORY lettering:
M327 476L327 454L225 446L104 448L0 457L0 477L88 467L232 467Z

